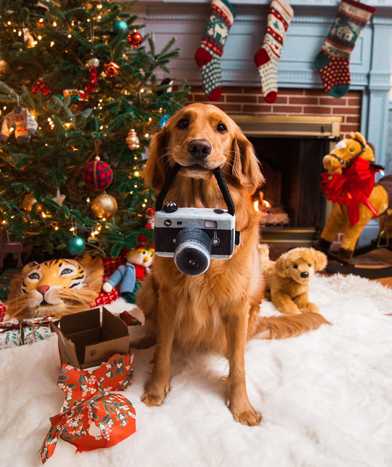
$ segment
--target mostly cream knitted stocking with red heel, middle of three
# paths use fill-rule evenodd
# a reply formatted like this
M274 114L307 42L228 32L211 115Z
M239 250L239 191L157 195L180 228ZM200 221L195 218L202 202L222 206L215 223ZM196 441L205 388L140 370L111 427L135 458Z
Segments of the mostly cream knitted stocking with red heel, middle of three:
M264 100L270 104L276 100L278 61L293 16L292 7L285 0L273 0L268 12L267 32L264 35L263 45L255 54Z

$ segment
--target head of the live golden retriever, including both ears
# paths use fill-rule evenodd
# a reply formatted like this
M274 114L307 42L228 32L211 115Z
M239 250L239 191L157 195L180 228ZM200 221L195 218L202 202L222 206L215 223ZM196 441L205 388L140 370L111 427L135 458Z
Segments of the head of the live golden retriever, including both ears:
M159 190L174 163L185 177L210 179L221 167L226 180L248 193L264 178L253 146L235 122L218 107L191 104L171 117L150 143L143 176Z

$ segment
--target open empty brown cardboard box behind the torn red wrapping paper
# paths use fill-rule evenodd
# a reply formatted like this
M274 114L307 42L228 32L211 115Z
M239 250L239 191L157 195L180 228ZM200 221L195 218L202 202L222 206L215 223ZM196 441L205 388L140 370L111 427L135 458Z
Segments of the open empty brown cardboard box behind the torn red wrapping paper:
M128 354L128 326L102 307L64 315L50 322L57 334L61 363L82 370L100 365L114 354Z

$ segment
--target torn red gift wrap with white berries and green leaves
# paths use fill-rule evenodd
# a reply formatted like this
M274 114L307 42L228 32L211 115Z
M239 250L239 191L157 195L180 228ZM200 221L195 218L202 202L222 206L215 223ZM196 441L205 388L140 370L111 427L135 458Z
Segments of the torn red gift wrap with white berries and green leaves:
M41 448L42 463L53 454L58 438L82 452L114 446L136 431L132 404L124 396L108 392L127 388L133 361L133 354L116 354L95 370L63 365L57 385L66 395L64 411L50 418Z

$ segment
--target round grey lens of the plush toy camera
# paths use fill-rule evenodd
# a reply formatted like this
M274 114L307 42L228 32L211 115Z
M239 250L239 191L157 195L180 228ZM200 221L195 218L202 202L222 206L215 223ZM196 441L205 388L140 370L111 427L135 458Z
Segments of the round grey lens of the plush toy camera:
M174 262L180 272L198 276L210 265L211 239L197 227L187 227L178 232Z

